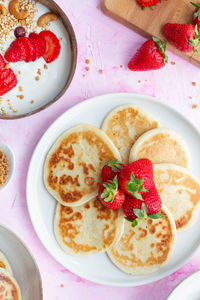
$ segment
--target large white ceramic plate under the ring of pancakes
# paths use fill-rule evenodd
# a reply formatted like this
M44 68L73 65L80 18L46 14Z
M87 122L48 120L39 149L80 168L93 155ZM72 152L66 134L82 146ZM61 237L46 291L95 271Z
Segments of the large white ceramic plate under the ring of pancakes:
M200 244L200 216L195 225L178 236L176 249L169 263L160 271L143 276L121 272L105 253L88 258L67 255L57 244L53 233L55 200L43 185L43 163L47 152L66 129L80 123L100 126L106 114L117 105L137 104L152 113L166 128L183 136L192 154L192 172L200 178L200 136L185 117L172 108L147 96L136 94L109 94L95 97L72 107L60 116L46 131L32 156L27 177L27 201L33 226L51 255L75 274L88 280L112 286L137 286L161 279L180 268Z

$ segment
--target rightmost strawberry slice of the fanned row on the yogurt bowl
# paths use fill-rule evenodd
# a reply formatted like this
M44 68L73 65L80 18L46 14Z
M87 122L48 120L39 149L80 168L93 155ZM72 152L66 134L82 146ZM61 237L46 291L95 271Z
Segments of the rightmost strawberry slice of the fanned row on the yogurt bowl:
M43 54L43 58L46 63L51 63L56 58L58 58L60 54L60 42L56 35L49 30L41 31L39 35L46 41L46 51Z

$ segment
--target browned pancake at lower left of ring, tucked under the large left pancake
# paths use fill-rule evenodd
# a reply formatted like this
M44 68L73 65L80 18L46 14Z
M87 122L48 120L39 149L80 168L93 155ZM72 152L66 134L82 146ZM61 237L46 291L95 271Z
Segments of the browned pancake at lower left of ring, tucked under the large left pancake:
M103 206L97 197L78 207L57 204L55 237L68 254L88 256L103 252L119 241L123 228L122 210Z

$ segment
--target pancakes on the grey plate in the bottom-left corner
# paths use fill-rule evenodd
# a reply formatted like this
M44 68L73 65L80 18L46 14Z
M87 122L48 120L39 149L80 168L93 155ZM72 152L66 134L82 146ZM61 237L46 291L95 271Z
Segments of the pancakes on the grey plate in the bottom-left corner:
M5 255L0 252L0 299L21 300L21 291Z

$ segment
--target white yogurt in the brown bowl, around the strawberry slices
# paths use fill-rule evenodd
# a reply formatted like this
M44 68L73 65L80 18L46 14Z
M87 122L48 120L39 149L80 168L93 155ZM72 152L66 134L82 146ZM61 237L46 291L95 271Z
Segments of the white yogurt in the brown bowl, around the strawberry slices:
M6 6L6 3L4 5ZM36 22L41 15L49 11L47 7L40 3L37 4L37 10ZM6 111L7 115L14 116L34 111L54 99L65 86L72 63L69 36L60 19L51 22L48 30L55 33L58 39L62 38L60 41L61 52L59 57L50 64L47 64L43 58L29 63L24 61L10 63L10 67L15 74L18 71L21 73L17 75L17 86L4 96L1 96L0 113L1 108ZM37 32L40 31L42 29L37 28ZM2 47L6 50L12 40L6 41ZM45 64L48 66L48 69L44 69ZM41 76L37 74L38 69L41 70ZM35 79L37 76L39 76L38 81ZM19 91L19 86L22 87L23 91ZM17 97L20 95L23 95L24 98L20 99ZM7 101L8 99L10 102ZM9 109L10 106L12 110ZM16 112L14 112L15 110Z

